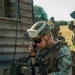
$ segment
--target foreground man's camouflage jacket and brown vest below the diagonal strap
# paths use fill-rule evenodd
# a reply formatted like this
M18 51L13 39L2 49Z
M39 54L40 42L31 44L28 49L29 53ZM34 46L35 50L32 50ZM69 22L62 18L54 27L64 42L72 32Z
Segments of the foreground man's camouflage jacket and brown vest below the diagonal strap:
M39 50L37 55L43 52ZM44 59L43 64L47 73L54 75L72 75L72 57L67 46L62 45L59 50L55 49L49 53Z

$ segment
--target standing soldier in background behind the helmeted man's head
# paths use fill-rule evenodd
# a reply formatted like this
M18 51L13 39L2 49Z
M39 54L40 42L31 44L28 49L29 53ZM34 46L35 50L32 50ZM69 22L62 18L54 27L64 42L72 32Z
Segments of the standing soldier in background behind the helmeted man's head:
M54 17L51 17L50 18L50 21L49 21L49 25L51 26L52 30L52 36L53 36L53 39L55 41L57 41L57 37L58 37L58 33L60 31L60 26L59 24L55 21Z

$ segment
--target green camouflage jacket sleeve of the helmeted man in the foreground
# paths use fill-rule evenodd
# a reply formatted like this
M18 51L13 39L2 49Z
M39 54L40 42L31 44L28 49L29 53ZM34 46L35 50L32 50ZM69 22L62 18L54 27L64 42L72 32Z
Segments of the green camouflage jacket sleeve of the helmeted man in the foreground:
M72 75L72 56L67 46L62 46L55 55L58 60L59 72L54 75Z

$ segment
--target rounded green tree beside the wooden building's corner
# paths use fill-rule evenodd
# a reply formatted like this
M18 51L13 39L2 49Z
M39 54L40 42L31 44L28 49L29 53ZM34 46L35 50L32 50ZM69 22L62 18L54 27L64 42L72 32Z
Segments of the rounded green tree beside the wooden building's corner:
M44 9L40 6L35 5L34 6L34 22L37 21L47 21L47 14L44 11Z

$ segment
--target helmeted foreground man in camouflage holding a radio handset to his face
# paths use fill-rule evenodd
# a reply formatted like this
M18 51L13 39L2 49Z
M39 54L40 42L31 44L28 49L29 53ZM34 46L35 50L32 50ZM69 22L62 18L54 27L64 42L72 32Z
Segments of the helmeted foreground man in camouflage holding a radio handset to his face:
M36 61L43 53L57 44L57 42L51 38L51 30L52 28L43 21L35 23L27 30L26 37L32 41L29 46L32 65L35 65ZM36 51L34 50L34 46L36 46ZM45 58L43 58L42 64L47 72L45 75L72 75L72 56L68 46L61 44L56 46ZM39 71L42 70L42 68L38 69ZM36 75L44 74L38 72Z

